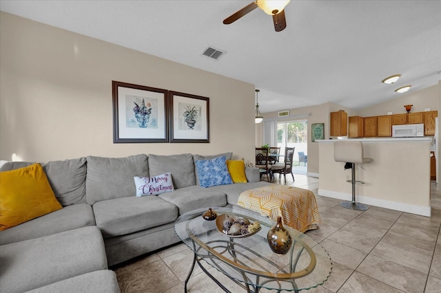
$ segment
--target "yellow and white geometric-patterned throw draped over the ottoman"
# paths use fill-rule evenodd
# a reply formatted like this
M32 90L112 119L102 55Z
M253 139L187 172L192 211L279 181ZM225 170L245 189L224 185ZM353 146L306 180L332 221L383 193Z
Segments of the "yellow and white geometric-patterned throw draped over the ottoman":
M300 232L317 229L320 213L314 193L307 189L285 185L269 185L240 193L238 206L254 210Z

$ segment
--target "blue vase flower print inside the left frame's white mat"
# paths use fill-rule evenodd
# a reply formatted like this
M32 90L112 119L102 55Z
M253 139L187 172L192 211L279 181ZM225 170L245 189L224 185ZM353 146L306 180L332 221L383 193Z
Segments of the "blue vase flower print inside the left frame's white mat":
M129 96L125 97L126 127L158 128L158 100L154 98Z

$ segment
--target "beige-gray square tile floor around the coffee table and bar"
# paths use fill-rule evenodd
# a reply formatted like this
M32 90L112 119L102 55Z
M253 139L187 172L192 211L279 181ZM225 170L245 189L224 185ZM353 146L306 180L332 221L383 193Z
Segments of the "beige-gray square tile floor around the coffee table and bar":
M296 175L296 181L287 184L316 194L322 224L307 235L334 261L329 279L305 292L441 292L441 189L435 182L430 218L375 206L366 211L342 208L340 200L317 195L314 177ZM112 269L121 292L182 293L192 258L191 250L180 243ZM209 271L231 292L244 292L214 268ZM223 292L197 265L188 289Z

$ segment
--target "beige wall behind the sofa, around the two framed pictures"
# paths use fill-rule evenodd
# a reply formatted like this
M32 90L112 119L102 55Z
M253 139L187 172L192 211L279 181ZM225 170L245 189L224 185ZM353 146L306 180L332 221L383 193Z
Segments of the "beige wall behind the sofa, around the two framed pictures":
M252 84L4 12L0 38L1 160L233 151L254 162ZM209 97L209 144L114 144L112 80Z

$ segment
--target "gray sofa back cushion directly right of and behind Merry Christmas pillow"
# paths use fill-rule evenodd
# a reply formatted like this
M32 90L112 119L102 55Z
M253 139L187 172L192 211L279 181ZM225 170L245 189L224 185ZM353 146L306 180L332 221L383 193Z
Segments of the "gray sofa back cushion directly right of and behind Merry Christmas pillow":
M175 188L196 185L191 153L181 155L149 155L150 176L172 173Z

